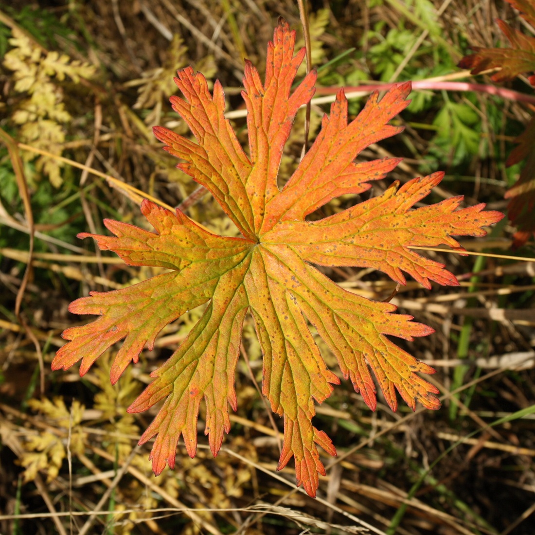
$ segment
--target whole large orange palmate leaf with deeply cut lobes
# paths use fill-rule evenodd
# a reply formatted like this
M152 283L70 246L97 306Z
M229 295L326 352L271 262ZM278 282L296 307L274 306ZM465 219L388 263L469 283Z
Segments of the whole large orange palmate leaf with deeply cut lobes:
M174 465L182 436L189 455L197 446L197 417L202 399L207 406L205 434L217 454L230 429L228 405L236 410L234 372L240 351L243 319L254 318L262 346L262 391L273 411L284 417L284 444L279 468L294 457L297 484L316 494L318 474L325 474L317 446L335 455L331 439L312 425L314 401L321 403L340 381L327 369L310 333L314 325L338 358L366 404L376 408L376 386L396 409L396 391L414 410L440 406L438 390L418 373L434 370L396 346L388 337L406 340L433 332L394 314L396 307L345 291L312 264L370 266L395 281L403 271L429 288L431 281L458 284L442 264L410 249L446 243L459 249L451 235L482 236L483 226L501 219L483 212L483 205L456 210L461 197L428 207L412 206L429 194L441 173L394 184L383 195L319 221L305 216L332 198L360 193L370 180L385 177L399 162L380 159L355 163L371 143L400 132L387 123L409 103L410 83L389 90L378 101L371 96L348 124L347 100L341 90L323 120L322 131L282 190L277 173L295 114L314 94L315 72L291 93L304 50L294 56L295 32L281 21L268 45L264 84L246 64L242 95L247 105L250 156L241 148L224 118L224 95L216 82L213 95L202 74L191 68L175 79L184 98L173 108L195 134L197 143L162 127L155 135L179 167L207 187L238 226L243 238L216 236L184 213L171 213L149 201L141 210L155 228L106 220L114 237L93 236L130 265L154 265L172 271L113 292L92 292L71 304L76 314L100 315L95 322L64 332L71 340L57 353L53 369L82 360L85 373L113 343L126 338L111 371L117 381L145 345L152 347L162 328L190 308L208 303L198 323L171 358L152 372L152 383L128 408L149 409L163 400L140 444L156 435L152 468L160 473ZM375 380L374 380L375 376Z

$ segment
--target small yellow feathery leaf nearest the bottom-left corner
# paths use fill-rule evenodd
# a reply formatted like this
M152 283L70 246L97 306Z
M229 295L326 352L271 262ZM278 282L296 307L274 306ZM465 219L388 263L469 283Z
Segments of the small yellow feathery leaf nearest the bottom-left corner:
M25 453L20 464L26 468L24 482L35 479L40 470L47 474L47 482L58 476L62 462L67 455L67 436L70 436L70 449L74 454L83 453L85 433L80 422L85 407L74 401L71 410L65 406L63 398L30 400L29 406L47 417L47 422L54 425L58 434L42 431L28 439L24 444Z

